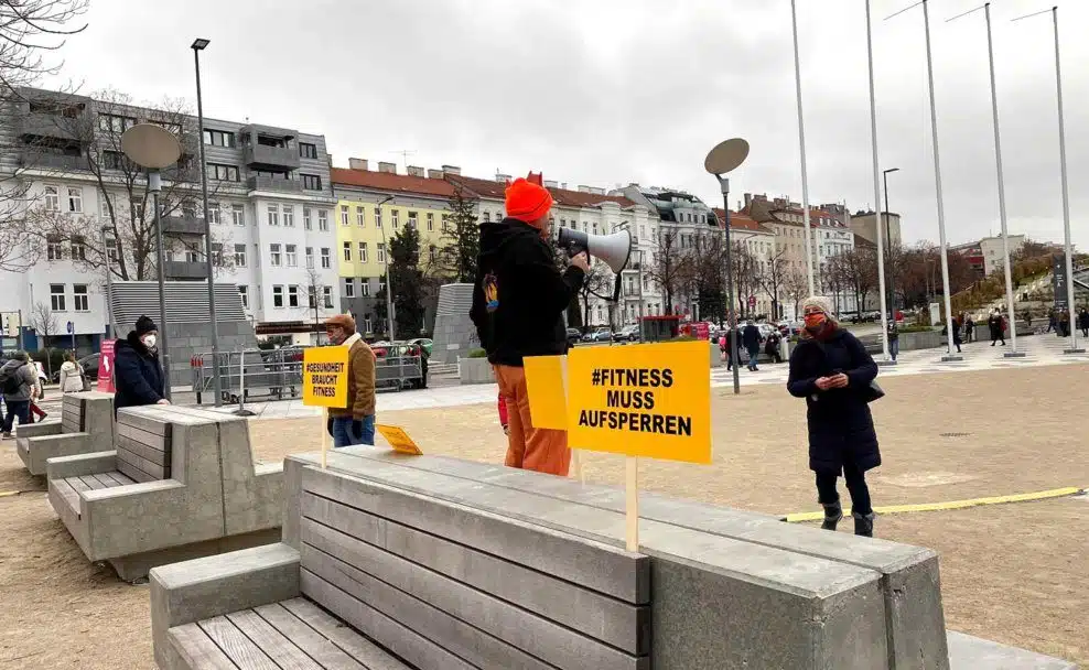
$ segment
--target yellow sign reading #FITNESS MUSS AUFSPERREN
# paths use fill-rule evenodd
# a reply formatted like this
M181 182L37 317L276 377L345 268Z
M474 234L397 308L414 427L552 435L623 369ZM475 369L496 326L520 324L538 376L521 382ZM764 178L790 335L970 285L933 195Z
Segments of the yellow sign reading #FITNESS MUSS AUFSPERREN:
M707 343L575 348L568 355L574 449L711 463Z

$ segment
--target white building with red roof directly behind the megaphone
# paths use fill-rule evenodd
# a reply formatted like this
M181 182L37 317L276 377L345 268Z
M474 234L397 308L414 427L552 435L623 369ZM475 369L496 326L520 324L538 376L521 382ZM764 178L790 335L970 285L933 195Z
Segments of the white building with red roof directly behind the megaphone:
M495 180L479 180L462 176L445 170L445 179L455 187L461 186L467 195L478 198L477 208L482 221L496 220L504 216L504 192L510 175L497 174ZM578 186L570 190L565 183L544 181L552 194L553 235L560 228L572 228L591 235L610 235L627 229L632 235L632 256L628 267L621 277L621 298L613 303L591 295L589 301L580 300L583 316L587 314L586 326L619 327L636 323L639 316L661 314L661 292L646 274L646 263L651 251L650 239L657 235L658 218L651 207L644 203L617 194L605 194L603 188ZM614 274L607 266L596 262L601 285L597 292L611 295Z

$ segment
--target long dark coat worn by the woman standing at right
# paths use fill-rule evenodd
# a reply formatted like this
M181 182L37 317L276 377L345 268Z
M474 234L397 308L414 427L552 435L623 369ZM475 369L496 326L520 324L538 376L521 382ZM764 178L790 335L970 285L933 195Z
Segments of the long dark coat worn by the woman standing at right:
M817 388L819 377L835 372L848 376L847 388L827 391ZM844 463L853 463L865 472L881 465L877 434L863 392L876 376L873 358L845 329L835 331L823 343L806 338L795 347L787 390L806 399L812 471L838 473Z

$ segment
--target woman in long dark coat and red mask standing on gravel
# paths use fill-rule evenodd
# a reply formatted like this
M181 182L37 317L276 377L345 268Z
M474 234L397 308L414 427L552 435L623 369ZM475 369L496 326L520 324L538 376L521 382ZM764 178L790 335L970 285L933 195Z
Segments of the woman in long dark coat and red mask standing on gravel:
M873 537L873 507L865 473L881 465L870 413L871 382L877 366L866 348L832 316L828 298L802 303L805 328L790 355L787 389L805 398L809 423L809 467L817 474L821 528L835 530L843 506L835 489L840 473L851 494L854 533Z

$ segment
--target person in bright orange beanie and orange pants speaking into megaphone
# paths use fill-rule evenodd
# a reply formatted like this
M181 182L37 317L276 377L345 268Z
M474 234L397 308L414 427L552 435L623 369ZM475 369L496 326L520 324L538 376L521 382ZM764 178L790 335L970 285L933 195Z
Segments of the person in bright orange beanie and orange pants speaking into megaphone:
M547 241L551 208L552 195L539 174L507 186L507 218L481 226L470 316L507 406L506 464L567 476L571 464L567 431L533 428L522 369L524 356L567 353L563 312L590 267L590 257L580 253L567 271L557 269Z

